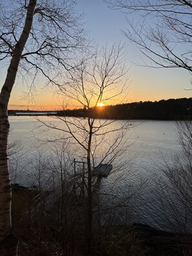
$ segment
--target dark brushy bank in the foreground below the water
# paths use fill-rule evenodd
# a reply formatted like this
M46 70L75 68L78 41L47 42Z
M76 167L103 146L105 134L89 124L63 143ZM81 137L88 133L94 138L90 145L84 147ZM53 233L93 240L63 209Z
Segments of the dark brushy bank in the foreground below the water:
M86 231L83 202L65 195L46 211L48 193L15 185L13 191L13 226L19 238L20 256L86 255ZM70 197L70 208L67 200ZM61 220L61 205L68 206ZM56 218L58 213L58 219ZM81 214L80 214L81 213ZM187 256L192 255L191 235L168 233L147 225L99 225L94 223L92 255L105 256Z

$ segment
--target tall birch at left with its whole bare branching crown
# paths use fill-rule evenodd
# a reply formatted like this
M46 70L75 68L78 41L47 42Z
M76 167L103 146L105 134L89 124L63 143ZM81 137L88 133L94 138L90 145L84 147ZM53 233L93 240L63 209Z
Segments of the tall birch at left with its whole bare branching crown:
M37 77L59 85L61 70L72 69L72 55L83 44L83 31L74 1L68 0L1 1L0 30L0 60L8 67L0 94L0 250L1 255L16 255L7 151L10 94L19 71L30 92Z

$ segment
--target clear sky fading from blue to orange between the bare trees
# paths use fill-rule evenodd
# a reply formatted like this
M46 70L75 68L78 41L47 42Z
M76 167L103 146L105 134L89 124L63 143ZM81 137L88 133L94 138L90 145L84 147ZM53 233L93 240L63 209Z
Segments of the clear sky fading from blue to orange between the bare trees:
M151 69L134 65L141 63L142 53L134 43L123 36L121 29L126 28L126 18L120 10L111 10L102 0L78 0L76 6L85 17L85 28L89 31L96 45L112 45L112 43L125 43L127 52L127 67L130 67L129 102L155 101L169 98L189 98L191 91L191 76L182 69ZM6 69L0 71L0 84L5 80ZM9 109L58 109L59 100L50 91L41 92L41 85L37 85L37 94L34 102L23 99L23 92L27 91L25 84L17 83L10 98Z

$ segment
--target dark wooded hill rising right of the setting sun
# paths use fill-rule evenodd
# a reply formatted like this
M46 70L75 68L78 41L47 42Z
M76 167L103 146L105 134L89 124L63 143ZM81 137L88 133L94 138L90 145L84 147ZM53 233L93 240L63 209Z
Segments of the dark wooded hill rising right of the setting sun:
M192 118L192 98L140 101L105 107L100 118L187 120Z

